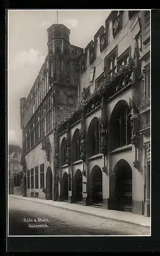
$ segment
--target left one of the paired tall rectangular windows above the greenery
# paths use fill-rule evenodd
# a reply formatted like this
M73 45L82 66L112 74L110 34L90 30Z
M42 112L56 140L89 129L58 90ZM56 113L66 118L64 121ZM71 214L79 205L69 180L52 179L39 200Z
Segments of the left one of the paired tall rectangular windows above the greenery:
M106 58L106 71L108 75L112 75L116 72L117 68L117 51L114 50L107 58Z

